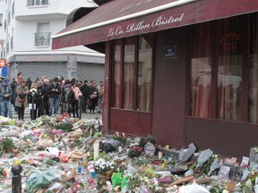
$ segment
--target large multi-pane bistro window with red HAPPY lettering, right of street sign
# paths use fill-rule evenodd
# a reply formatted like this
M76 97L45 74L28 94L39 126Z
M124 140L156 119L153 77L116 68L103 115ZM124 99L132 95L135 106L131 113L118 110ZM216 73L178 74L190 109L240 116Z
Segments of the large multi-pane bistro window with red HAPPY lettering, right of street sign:
M258 122L257 21L254 13L193 27L192 116Z

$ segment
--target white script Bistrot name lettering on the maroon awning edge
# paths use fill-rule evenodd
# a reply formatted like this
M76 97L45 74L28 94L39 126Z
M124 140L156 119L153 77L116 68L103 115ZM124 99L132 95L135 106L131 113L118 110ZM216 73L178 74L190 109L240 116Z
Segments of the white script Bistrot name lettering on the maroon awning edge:
M125 29L122 26L116 26L116 28L110 28L107 32L107 37L115 37L118 35L131 33L135 31L140 31L142 29L151 29L156 28L160 26L165 26L170 23L176 23L183 21L185 13L182 13L181 15L177 17L165 17L163 14L159 15L159 17L155 18L153 21L145 22L145 21L139 21L139 22L133 22L128 24Z

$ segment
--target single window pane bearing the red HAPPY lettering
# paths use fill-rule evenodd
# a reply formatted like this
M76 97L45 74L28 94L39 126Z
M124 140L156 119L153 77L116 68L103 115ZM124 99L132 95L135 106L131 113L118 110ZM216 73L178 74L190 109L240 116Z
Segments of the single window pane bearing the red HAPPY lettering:
M241 20L236 19L221 21L219 25L217 116L222 120L240 120L242 26Z

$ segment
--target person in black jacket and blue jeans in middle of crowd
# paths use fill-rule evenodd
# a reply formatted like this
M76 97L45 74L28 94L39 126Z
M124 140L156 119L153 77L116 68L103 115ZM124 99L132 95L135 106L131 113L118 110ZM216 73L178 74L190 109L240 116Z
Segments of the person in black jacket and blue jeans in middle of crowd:
M58 84L57 77L54 78L53 82L48 87L49 94L49 111L48 115L51 116L52 113L58 113L58 105L59 105L59 95L61 94L61 87Z

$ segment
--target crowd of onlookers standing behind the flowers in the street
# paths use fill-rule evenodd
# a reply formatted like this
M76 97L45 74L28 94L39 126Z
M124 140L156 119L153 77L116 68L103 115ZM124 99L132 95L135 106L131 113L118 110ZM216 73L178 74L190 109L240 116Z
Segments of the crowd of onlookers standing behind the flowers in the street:
M103 81L99 81L97 86L94 80L64 80L60 76L48 80L45 75L32 81L30 78L24 80L22 72L19 72L12 82L1 79L0 113L13 118L13 105L20 121L24 121L26 107L30 109L30 120L63 113L79 118L80 106L82 113L95 113L96 108L101 113L103 96Z

